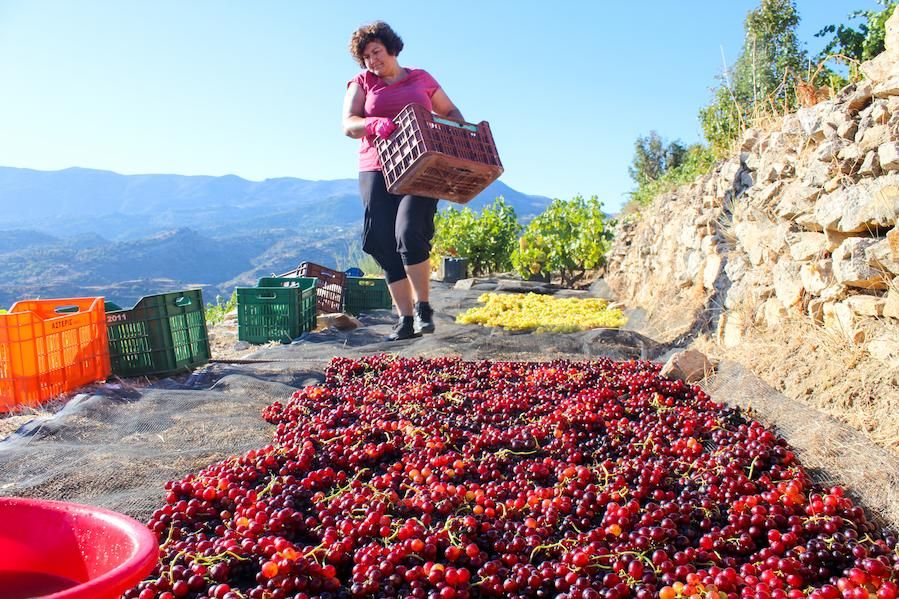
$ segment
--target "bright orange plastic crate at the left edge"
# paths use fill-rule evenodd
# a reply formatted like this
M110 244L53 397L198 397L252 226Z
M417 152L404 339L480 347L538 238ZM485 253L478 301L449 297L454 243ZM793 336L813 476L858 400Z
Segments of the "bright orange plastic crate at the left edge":
M0 314L0 412L109 376L102 297L16 302Z

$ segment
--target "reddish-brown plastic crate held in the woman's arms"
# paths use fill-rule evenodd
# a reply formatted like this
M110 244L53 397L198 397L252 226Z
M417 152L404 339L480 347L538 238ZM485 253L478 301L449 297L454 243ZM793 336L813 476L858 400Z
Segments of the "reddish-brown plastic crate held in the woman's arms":
M375 142L390 193L464 204L503 174L487 121L453 121L420 104L407 105L394 121L390 138Z

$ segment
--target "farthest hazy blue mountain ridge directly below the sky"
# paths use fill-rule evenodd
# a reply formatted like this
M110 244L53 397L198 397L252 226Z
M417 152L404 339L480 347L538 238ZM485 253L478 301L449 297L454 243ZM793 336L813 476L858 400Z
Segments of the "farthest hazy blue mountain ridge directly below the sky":
M497 196L524 221L550 201L497 181L469 206L479 210ZM248 181L234 175L120 175L83 168L0 167L0 206L15 207L0 211L0 229L56 237L96 233L112 240L180 227L222 235L270 227L353 226L362 219L355 179Z

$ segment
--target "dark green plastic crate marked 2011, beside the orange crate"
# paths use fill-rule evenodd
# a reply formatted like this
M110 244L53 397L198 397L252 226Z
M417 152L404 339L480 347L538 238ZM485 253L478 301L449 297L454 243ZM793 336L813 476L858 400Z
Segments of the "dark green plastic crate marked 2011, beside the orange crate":
M173 374L211 357L199 289L147 295L130 310L106 302L106 310L109 359L119 376Z

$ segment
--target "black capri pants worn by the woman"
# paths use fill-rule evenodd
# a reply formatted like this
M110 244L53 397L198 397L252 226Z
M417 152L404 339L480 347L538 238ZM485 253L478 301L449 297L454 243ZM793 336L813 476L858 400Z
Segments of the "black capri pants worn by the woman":
M388 192L381 171L360 172L359 193L365 205L362 249L384 269L388 283L405 279L404 265L431 255L437 200Z

